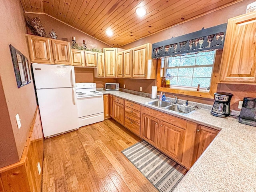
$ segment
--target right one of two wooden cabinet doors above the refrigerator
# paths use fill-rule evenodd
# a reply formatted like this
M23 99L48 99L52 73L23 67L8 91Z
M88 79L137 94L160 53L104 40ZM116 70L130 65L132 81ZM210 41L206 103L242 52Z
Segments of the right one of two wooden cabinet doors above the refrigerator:
M55 64L70 65L70 42L52 40L52 51Z

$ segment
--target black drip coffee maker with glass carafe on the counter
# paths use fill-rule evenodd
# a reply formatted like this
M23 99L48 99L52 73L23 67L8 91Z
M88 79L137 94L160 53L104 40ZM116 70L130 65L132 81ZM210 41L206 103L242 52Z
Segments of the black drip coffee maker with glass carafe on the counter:
M230 100L233 94L217 92L214 93L215 102L213 104L211 114L217 117L229 116Z

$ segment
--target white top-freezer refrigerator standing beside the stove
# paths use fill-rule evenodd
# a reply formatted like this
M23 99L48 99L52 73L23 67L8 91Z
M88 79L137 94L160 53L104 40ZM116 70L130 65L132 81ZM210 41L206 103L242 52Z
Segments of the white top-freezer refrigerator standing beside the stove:
M44 138L78 129L74 66L32 64Z

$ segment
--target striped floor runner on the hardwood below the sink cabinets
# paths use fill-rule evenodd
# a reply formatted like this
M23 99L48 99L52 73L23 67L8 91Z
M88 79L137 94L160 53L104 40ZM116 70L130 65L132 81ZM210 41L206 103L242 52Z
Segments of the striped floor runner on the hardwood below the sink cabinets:
M172 192L186 172L144 140L122 153L160 192Z

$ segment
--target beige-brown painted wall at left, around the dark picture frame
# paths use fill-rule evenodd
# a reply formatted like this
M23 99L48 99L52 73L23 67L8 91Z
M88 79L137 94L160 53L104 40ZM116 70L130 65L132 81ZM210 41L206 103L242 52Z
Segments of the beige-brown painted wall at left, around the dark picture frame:
M36 110L33 82L17 88L9 44L27 58L26 27L23 8L18 0L2 0L0 6L0 167L18 162L22 155L30 123ZM20 115L18 130L15 115Z

